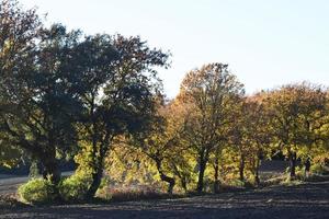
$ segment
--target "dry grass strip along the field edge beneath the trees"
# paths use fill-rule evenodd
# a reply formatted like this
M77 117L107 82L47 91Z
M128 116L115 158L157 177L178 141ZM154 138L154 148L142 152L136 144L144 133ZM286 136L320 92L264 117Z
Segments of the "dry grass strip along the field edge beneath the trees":
M290 181L287 174L275 174L275 175L268 175L268 180L262 181L259 187L268 187L273 185L282 185L282 186L294 186L304 183L304 178L297 177L294 181ZM321 175L321 174L310 174L309 177L305 178L305 182L325 182L329 181L329 175ZM219 193L236 193L236 192L243 192L250 191L256 188L256 186L251 184L246 184L242 182L230 182L224 183L219 186ZM134 201L134 200L150 200L150 199L175 199L182 197L193 197L200 195L208 195L212 194L211 192L197 194L195 192L190 192L188 194L167 194L160 189L156 189L154 187L120 187L113 188L110 186L104 186L103 188L98 191L97 198L86 201L75 201L75 203L58 203L56 205L70 205L70 204L110 204L110 203L117 203L117 201ZM54 205L54 204L49 204ZM26 207L25 205L18 200L14 194L10 195L0 195L0 210L5 209L9 207Z

